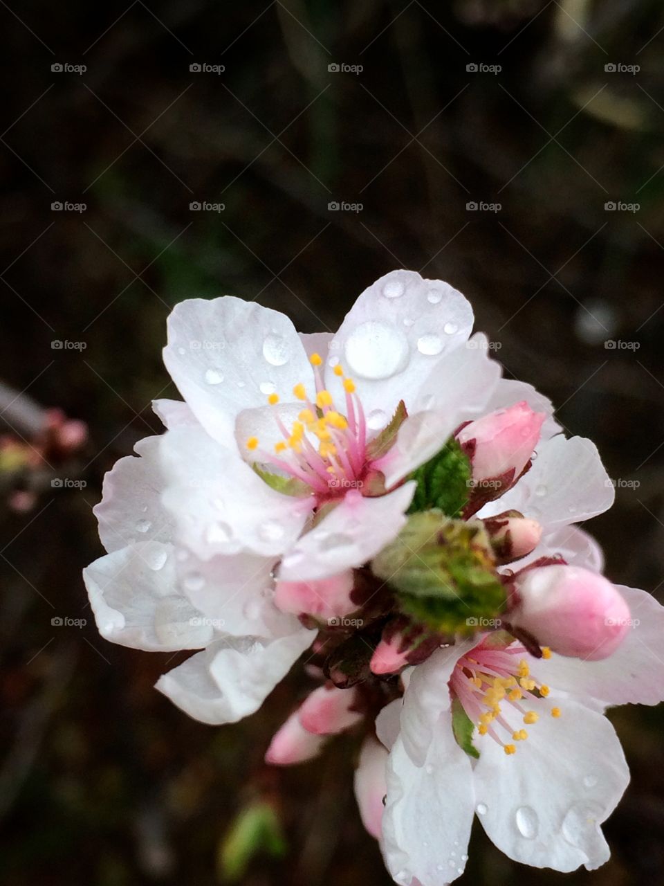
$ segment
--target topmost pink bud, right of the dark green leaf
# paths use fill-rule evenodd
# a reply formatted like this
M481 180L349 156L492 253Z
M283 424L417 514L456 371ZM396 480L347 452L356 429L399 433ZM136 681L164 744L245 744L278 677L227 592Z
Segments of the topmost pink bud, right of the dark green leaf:
M461 428L457 439L470 458L475 485L509 475L509 486L519 477L537 445L545 418L523 400Z

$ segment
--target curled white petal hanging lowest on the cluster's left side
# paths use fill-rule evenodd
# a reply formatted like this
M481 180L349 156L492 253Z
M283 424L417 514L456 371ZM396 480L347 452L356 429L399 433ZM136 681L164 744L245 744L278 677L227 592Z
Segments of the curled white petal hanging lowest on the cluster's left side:
M258 711L314 636L301 628L274 641L226 637L165 673L156 688L203 723L236 723Z

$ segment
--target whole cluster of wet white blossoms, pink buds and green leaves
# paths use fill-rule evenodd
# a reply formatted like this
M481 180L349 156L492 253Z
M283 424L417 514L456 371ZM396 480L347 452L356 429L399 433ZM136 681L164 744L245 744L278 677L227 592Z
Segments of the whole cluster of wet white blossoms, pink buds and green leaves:
M390 874L463 873L475 813L510 858L608 858L629 772L606 707L660 701L664 616L579 524L614 490L590 440L501 377L458 291L411 271L336 335L231 297L168 323L184 401L104 481L85 571L105 638L200 650L157 688L210 724L305 653L317 685L266 749L361 736L355 788Z

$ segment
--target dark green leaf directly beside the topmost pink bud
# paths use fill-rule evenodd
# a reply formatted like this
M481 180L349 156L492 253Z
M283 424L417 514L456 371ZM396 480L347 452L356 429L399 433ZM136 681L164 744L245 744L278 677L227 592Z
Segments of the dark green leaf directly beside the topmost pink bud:
M417 482L409 514L437 508L448 517L460 517L470 494L472 470L467 455L455 439L449 439L429 462L414 470Z

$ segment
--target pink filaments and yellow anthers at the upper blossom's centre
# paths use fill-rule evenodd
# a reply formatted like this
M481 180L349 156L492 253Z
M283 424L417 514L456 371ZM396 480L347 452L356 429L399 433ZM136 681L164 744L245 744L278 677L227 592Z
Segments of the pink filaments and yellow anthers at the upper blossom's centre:
M246 447L255 452L261 462L273 464L290 477L302 480L320 496L336 496L359 486L366 462L367 421L355 383L344 376L341 365L337 363L333 371L343 379L344 411L337 408L323 384L320 354L312 354L309 359L313 366L315 396L310 399L304 384L295 385L293 394L303 408L290 428L283 424L274 408L274 421L282 435L274 444L274 453L262 450L257 437L250 437ZM276 407L279 395L271 393L267 402Z

